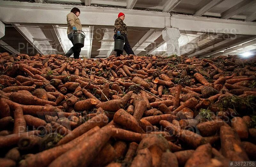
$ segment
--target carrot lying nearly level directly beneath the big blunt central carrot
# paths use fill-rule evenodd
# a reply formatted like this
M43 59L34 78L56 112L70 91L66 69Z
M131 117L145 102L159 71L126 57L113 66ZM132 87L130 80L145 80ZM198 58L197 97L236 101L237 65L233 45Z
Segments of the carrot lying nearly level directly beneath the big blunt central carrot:
M135 133L120 128L112 128L111 136L118 140L140 142L145 134Z

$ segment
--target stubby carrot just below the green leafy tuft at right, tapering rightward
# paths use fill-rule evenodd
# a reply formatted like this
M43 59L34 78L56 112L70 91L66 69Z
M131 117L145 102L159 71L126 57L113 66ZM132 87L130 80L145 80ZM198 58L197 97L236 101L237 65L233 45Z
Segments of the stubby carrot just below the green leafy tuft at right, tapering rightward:
M212 121L206 121L196 125L202 136L211 136L218 133L220 126L225 125L225 122L220 119L214 119Z

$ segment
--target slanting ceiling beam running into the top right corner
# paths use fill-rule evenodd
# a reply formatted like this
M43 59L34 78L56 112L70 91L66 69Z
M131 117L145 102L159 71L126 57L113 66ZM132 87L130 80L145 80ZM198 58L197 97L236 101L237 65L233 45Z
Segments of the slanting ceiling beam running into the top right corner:
M229 19L232 16L252 7L256 4L256 0L244 0L232 8L229 8L228 10L221 13L221 19Z

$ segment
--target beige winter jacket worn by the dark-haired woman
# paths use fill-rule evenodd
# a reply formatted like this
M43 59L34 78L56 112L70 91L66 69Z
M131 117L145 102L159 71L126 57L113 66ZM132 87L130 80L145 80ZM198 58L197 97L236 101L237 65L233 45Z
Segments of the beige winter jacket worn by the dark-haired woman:
M80 20L73 12L68 13L67 24L68 24L67 34L70 34L73 32L73 29L72 29L73 27L76 27L77 30L82 30L82 25Z

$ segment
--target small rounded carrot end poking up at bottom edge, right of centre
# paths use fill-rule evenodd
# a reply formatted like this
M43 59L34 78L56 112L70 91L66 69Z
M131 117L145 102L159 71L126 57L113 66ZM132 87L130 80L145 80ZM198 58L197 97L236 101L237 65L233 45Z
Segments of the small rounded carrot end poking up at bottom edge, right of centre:
M177 157L175 156L174 153L170 152L169 150L163 153L161 157L161 167L168 167L168 166L173 166L173 167L179 166Z

